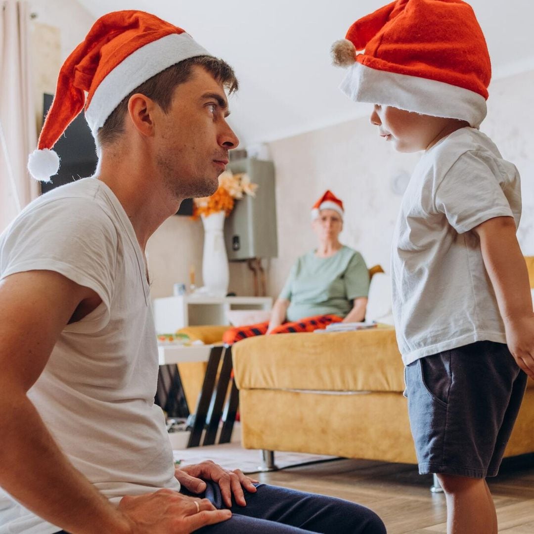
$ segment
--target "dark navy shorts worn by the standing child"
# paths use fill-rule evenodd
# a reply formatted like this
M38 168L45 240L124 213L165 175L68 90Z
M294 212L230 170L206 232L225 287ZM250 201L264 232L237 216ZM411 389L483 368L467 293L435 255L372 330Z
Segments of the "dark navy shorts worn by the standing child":
M496 476L527 385L503 343L478 341L405 368L419 473Z

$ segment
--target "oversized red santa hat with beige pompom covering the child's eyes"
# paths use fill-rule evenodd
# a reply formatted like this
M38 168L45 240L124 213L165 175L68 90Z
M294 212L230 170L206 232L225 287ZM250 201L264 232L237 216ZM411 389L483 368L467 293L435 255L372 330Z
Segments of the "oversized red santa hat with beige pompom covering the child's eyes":
M364 50L363 53L356 53ZM469 4L397 0L357 20L332 46L350 66L341 90L356 102L469 122L486 116L488 47Z

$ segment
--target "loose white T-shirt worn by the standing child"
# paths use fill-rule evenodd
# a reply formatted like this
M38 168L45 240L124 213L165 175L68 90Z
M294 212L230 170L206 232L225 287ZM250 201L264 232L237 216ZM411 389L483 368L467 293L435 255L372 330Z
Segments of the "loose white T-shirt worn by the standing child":
M519 172L491 139L461 128L423 154L404 193L391 272L405 365L475 341L506 343L475 226L511 216L519 225Z

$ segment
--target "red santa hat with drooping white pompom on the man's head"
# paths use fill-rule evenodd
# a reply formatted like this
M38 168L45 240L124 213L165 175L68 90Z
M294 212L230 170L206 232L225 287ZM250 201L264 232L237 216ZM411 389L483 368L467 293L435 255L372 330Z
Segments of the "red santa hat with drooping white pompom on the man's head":
M211 54L185 30L150 13L115 11L100 17L61 67L38 150L29 156L30 174L44 182L57 174L59 157L52 147L84 107L96 138L107 117L136 87L196 56Z

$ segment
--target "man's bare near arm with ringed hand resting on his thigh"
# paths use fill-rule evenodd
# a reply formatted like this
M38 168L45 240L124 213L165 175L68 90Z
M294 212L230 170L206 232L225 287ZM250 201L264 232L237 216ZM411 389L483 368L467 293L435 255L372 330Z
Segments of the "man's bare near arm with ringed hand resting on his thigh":
M93 290L52 271L21 272L0 281L0 486L75 534L191 532L228 519L209 502L202 502L197 514L190 497L170 490L129 497L119 509L113 507L70 464L30 402L27 391L62 329L95 300Z

